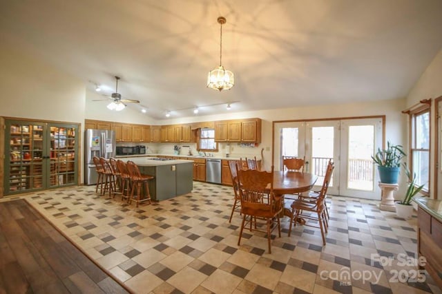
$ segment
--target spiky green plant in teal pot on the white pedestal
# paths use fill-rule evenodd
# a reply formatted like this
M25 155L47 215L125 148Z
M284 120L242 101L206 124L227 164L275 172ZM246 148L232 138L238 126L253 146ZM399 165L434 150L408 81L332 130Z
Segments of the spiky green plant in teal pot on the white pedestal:
M402 145L392 145L387 142L387 149L378 148L376 154L372 156L374 164L378 165L379 178L385 184L397 184L401 160L405 152Z

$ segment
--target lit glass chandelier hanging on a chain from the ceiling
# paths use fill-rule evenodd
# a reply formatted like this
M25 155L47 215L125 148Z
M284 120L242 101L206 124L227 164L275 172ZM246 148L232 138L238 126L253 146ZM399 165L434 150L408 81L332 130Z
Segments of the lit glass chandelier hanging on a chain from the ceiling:
M218 23L220 23L220 66L215 67L207 75L207 87L213 90L230 90L235 85L235 77L233 72L225 70L222 66L222 25L226 23L224 17L218 17Z

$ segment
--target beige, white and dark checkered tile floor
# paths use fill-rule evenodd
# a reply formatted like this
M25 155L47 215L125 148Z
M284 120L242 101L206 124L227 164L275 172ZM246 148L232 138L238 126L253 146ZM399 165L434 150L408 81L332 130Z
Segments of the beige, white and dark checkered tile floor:
M260 233L244 231L237 245L242 218L229 223L231 187L194 182L192 193L139 208L93 186L22 198L135 293L442 293L427 275L403 277L417 270L398 262L415 256L416 218L396 218L376 201L327 198L326 246L311 227L288 237L282 218L282 238L272 236L268 254Z

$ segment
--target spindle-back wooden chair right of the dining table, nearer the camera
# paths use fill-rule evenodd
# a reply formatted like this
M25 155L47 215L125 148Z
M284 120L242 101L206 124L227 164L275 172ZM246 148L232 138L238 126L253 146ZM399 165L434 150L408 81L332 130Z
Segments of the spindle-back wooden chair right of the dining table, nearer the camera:
M291 204L291 220L289 226L289 236L291 234L291 227L296 227L296 223L300 219L304 220L302 223L309 227L316 227L320 229L321 237L323 238L323 245L325 245L325 233L327 233L327 220L325 216L325 196L329 187L329 181L332 177L334 165L327 169L323 186L321 187L318 197L314 200L299 198ZM312 224L306 220L314 220L318 225Z

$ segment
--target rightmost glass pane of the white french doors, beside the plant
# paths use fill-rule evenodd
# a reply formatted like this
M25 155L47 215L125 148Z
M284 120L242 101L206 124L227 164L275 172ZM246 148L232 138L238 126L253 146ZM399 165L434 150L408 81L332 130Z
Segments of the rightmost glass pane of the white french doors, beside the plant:
M374 189L374 125L349 126L347 188Z

